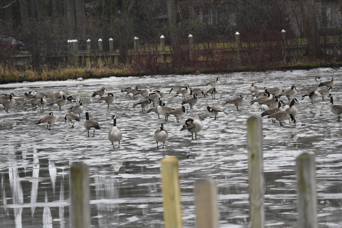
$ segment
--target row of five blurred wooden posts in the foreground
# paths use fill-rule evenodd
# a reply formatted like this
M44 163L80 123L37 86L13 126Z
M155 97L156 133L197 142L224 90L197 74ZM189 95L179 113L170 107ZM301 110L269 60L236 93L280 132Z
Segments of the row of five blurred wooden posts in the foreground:
M247 120L249 222L251 228L264 228L264 179L262 126L259 117ZM178 159L161 159L165 228L182 228L181 189ZM296 159L298 227L317 228L314 156L303 153ZM215 182L208 178L195 183L197 228L218 228L219 211ZM73 228L89 228L89 170L80 163L70 168L70 220ZM88 216L87 216L88 215Z

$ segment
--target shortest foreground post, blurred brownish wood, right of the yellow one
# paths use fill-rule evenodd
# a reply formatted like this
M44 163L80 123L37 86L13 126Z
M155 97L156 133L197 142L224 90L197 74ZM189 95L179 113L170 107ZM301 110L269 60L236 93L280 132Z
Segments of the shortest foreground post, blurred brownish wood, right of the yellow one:
M195 183L197 228L218 228L217 188L208 178Z

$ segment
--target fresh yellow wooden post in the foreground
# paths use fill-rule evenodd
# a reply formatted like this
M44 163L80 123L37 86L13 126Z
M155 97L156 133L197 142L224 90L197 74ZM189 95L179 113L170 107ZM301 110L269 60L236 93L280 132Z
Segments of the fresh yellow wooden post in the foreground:
M182 228L181 190L179 186L178 159L161 159L161 183L165 228Z

